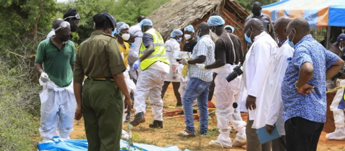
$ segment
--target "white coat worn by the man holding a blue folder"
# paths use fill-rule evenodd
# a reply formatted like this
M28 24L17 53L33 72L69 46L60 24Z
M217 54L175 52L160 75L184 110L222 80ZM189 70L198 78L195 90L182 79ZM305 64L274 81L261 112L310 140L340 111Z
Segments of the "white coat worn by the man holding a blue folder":
M261 128L266 124L277 124L281 135L285 135L282 119L283 102L281 84L288 65L287 58L292 57L294 49L286 41L276 53L272 53L266 66L259 92L256 98L255 119L252 128Z

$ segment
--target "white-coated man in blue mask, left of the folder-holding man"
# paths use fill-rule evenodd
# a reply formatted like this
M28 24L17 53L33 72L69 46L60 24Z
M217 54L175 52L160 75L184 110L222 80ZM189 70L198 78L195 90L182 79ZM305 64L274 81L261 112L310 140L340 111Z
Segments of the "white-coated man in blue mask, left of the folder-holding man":
M264 76L265 67L269 63L269 57L275 53L278 46L275 40L265 32L260 20L250 19L244 25L245 39L253 43L245 57L244 74L246 76L247 100L246 108L248 120L246 126L247 150L271 150L271 142L261 144L258 140L256 130L251 128L255 117L256 97L259 94L258 88Z

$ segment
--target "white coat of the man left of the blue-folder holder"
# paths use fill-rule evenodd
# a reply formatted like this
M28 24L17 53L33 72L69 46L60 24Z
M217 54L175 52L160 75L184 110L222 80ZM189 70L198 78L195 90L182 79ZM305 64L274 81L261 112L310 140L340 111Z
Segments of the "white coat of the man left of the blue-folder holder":
M265 73L265 67L269 63L271 53L275 53L278 48L276 41L266 32L254 38L252 46L246 54L245 75L247 95L257 97L258 88ZM247 98L247 97L246 97ZM257 104L256 100L256 104ZM254 120L255 110L249 110L249 120Z

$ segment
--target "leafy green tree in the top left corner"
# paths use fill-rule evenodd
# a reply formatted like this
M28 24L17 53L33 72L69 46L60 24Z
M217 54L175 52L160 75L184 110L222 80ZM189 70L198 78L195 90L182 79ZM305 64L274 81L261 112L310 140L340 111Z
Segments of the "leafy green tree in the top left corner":
M54 12L54 0L0 1L0 52L17 48L25 39L40 40L37 36L47 34Z

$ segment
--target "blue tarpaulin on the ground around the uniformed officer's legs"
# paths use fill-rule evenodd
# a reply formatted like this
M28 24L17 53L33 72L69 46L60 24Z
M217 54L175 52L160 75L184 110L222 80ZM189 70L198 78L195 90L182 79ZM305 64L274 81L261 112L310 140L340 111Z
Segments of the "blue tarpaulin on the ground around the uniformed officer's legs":
M88 141L82 139L64 139L60 137L54 137L53 139L44 143L37 144L38 150L49 151L88 151ZM126 151L128 148L128 142L120 141L120 151ZM133 143L131 151L181 151L178 146L166 146L158 147L150 144ZM184 151L190 151L185 149Z

